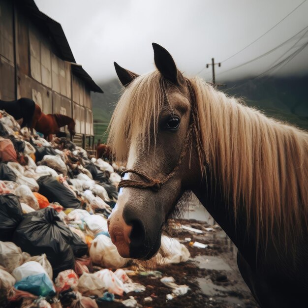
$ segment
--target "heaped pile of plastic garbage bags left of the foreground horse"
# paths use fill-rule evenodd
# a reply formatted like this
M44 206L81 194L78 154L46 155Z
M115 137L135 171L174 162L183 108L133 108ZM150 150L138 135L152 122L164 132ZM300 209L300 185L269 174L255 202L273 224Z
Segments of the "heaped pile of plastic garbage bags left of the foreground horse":
M0 111L0 307L139 305L121 297L146 289L130 278L144 269L119 255L107 228L123 170L66 138L31 135ZM162 246L158 264L189 258L176 239L163 236Z

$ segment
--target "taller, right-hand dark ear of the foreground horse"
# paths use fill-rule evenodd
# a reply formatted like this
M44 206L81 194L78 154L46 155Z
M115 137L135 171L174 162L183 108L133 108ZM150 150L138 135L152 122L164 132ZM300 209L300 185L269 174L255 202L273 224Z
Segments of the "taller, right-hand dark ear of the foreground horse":
M156 43L152 43L154 49L154 62L159 72L173 84L179 86L178 69L169 52Z

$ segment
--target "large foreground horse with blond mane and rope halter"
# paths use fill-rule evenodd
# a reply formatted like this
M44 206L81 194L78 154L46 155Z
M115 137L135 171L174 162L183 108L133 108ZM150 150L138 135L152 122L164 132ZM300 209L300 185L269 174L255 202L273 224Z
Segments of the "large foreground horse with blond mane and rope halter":
M112 242L122 257L149 260L192 192L237 246L260 307L308 307L308 133L185 78L153 48L154 72L115 62L124 91L108 144L127 170L108 218Z

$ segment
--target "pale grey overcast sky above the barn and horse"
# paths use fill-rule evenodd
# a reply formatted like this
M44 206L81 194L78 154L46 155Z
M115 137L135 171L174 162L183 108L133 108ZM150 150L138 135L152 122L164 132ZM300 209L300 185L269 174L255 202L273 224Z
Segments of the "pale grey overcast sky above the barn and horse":
M43 13L61 23L76 62L96 82L116 77L114 61L139 74L153 70L152 42L165 47L188 76L199 74L211 80L211 67L204 67L214 57L216 62L222 62L221 67L216 67L216 80L222 82L257 76L308 42L308 28L304 29L308 26L308 0L269 31L303 1L35 0L35 3ZM223 73L272 50L301 30L268 56ZM266 31L269 32L262 38L228 59ZM277 68L273 72L277 75L307 74L308 46Z

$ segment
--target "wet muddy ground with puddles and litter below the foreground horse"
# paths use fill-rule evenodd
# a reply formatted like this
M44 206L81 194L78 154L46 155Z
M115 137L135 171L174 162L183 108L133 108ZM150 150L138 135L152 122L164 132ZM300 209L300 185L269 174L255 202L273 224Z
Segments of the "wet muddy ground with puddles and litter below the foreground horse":
M133 296L140 307L168 307L168 308L258 308L251 292L246 286L236 264L236 248L217 225L209 225L205 221L182 219L182 224L202 230L203 234L179 228L175 230L177 237L189 250L191 258L175 265L156 268L163 276L172 276L177 284L186 284L189 291L182 296L167 300L166 295L171 289L160 282L159 277L153 275L132 276L133 282L146 286L142 293L131 292L121 298ZM213 222L212 222L213 223ZM214 230L207 231L206 228ZM207 244L207 248L197 248L189 245L191 242ZM144 301L151 297L152 301ZM116 297L120 299L120 297ZM101 307L124 307L120 303L104 303Z

